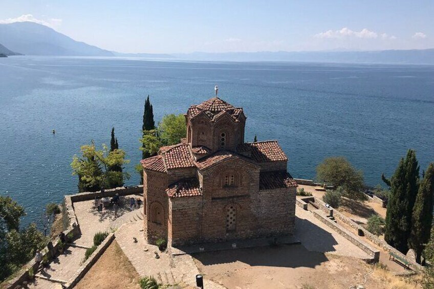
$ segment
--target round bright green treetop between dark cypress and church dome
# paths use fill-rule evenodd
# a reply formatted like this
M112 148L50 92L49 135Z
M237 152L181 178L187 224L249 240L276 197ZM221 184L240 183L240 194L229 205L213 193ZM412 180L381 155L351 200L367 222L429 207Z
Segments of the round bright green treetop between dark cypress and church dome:
M158 133L163 145L174 145L187 135L187 125L183 114L165 115L158 125Z

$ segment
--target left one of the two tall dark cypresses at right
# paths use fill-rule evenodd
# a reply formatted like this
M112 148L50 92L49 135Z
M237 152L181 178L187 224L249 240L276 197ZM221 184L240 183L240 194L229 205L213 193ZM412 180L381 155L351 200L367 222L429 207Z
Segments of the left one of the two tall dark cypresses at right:
M390 179L384 240L406 254L411 230L411 215L416 201L419 166L414 150L408 150Z

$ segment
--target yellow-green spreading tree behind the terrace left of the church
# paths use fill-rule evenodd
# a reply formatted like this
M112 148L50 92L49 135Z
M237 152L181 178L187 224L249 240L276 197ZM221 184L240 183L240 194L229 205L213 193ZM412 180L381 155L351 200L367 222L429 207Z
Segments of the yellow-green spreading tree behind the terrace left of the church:
M78 175L80 180L90 186L100 189L111 188L111 184L121 183L129 179L129 174L123 171L112 171L109 167L119 166L129 163L125 160L125 151L115 149L109 151L106 145L102 145L102 150L97 150L95 143L81 147L81 157L74 155L71 163L73 175ZM92 166L89 166L89 160L93 160ZM95 164L98 169L95 169Z

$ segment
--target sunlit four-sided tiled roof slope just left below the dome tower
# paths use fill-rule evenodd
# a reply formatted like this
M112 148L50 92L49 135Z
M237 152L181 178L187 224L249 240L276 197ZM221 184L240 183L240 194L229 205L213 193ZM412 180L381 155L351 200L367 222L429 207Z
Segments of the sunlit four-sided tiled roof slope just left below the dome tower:
M189 144L177 144L160 148L166 169L195 167Z

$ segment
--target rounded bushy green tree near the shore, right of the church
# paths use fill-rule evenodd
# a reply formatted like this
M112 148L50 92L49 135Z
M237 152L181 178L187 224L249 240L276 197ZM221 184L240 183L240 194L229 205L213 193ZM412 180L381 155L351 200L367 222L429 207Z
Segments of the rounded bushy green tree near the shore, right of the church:
M356 170L344 157L325 159L316 167L316 173L318 181L342 187L344 196L356 200L366 199L362 192L364 187L362 171Z

